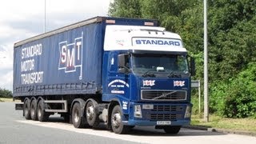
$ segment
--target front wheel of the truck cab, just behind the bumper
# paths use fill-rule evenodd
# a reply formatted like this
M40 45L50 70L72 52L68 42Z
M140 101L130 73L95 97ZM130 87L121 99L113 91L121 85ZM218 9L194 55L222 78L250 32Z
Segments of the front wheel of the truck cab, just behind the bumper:
M122 123L122 110L119 105L114 106L111 114L111 126L115 134L126 134L130 130L130 126Z

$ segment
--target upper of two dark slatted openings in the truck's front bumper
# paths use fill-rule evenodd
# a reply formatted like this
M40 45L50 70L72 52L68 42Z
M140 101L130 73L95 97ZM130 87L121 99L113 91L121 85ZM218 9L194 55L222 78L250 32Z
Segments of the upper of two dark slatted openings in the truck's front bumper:
M151 111L182 112L183 111L183 106L169 106L169 105L158 106L158 105L154 105L154 108Z

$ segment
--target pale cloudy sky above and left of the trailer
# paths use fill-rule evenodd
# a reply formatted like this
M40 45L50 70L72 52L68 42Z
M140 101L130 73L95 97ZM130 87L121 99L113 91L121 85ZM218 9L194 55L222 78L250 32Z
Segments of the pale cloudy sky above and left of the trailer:
M42 34L44 30L47 32L88 18L107 16L110 2L112 1L2 1L0 4L0 88L12 90L15 42Z

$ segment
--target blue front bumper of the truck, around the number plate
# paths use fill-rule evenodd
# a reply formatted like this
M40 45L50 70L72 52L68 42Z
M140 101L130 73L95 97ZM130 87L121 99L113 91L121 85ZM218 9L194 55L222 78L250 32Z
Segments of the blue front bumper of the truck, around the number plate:
M140 118L134 114L135 105L141 107L142 115ZM167 122L167 125L170 126L186 126L190 124L190 116L189 118L186 116L188 106L191 107L192 105L190 103L130 102L130 112L122 122L124 125L130 126L161 126L162 122L165 124Z

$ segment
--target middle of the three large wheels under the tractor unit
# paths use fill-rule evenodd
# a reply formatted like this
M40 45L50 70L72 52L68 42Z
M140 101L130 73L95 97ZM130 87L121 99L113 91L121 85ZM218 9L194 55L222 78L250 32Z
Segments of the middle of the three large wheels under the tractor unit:
M94 100L90 100L86 104L86 120L89 126L96 127L98 126L100 120L98 114L96 113L95 107L98 103Z

